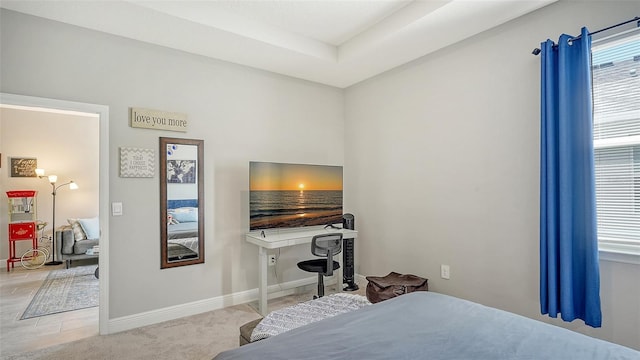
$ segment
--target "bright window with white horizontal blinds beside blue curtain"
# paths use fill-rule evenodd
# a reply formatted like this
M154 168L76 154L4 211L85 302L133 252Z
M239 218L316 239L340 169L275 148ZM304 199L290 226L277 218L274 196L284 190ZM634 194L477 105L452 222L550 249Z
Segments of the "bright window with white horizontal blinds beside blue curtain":
M640 255L640 30L594 42L592 72L599 247Z

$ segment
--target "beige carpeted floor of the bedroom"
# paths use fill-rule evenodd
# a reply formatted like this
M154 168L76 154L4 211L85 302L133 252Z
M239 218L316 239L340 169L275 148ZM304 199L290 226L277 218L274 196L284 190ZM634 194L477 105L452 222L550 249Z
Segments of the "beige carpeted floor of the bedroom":
M364 295L364 287L359 291ZM313 290L269 300L272 310L312 298ZM241 325L260 318L248 304L230 306L106 336L9 356L7 360L199 360L238 347Z

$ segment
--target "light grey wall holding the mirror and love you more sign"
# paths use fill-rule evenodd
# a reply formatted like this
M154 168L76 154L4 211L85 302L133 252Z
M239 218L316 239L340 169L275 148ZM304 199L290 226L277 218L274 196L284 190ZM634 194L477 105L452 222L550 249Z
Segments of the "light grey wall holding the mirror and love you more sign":
M109 229L112 319L256 288L249 161L343 163L342 90L4 9L0 20L2 92L109 106L110 201L124 207ZM131 128L130 107L186 113L189 131ZM158 175L118 176L119 147L157 151L160 136L204 140L202 265L160 270ZM284 270L308 252L284 252L278 279L308 277Z

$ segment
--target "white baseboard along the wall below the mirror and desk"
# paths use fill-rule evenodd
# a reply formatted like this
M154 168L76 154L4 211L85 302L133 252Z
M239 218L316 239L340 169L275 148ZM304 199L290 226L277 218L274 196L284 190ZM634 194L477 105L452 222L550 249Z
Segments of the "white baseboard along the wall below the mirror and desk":
M270 285L269 299L295 293L296 288L312 285L318 281L317 277L309 277L286 283ZM335 280L329 280L327 285L335 284ZM142 326L158 324L164 321L175 320L185 316L197 315L207 311L222 309L228 306L246 304L258 300L258 289L240 291L229 295L218 296L210 299L194 301L186 304L170 306L162 309L147 311L134 315L123 316L109 320L108 333L113 334Z

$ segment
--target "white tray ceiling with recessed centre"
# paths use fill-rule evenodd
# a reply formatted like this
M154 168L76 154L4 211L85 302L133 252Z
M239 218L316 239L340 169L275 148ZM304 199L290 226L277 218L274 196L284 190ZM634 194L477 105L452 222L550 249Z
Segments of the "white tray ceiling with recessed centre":
M0 6L344 88L555 1L3 0Z

